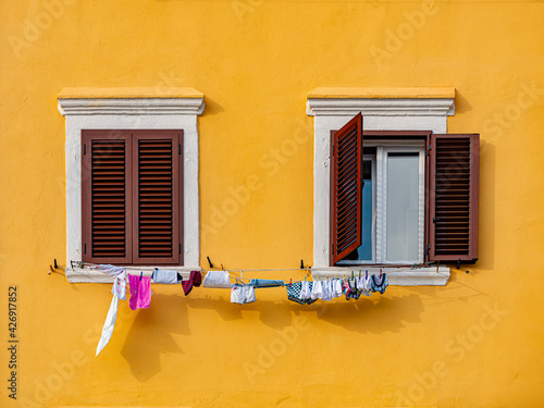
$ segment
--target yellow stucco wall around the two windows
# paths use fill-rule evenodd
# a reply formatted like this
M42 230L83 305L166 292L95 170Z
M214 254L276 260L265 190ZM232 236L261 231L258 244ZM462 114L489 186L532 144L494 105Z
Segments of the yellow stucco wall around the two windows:
M542 406L543 18L539 1L2 1L0 406ZM448 132L482 140L480 260L444 287L310 307L283 288L240 307L220 289L157 286L148 310L121 302L95 358L110 285L46 273L65 259L57 95L184 86L207 103L201 265L206 256L225 268L311 264L306 97L349 86L456 88ZM307 141L274 158L298 127ZM250 175L260 181L250 199L213 218ZM260 276L271 275L301 276Z

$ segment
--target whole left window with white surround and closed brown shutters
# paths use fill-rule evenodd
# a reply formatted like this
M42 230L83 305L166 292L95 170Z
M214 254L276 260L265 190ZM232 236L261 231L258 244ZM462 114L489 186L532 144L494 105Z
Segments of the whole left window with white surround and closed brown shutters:
M85 164L85 160L89 159L84 158L85 152L89 154L89 147L84 148L83 146L83 141L87 137L91 139L98 138L107 144L119 144L120 140L123 140L124 150L121 148L120 151L123 151L122 154L125 160L124 188L129 193L124 203L125 211L131 212L129 217L125 220L118 219L115 223L111 223L109 226L106 225L110 230L104 231L108 238L116 239L115 245L118 249L122 247L122 251L99 254L100 257L96 257L96 261L110 259L110 263L132 263L140 270L152 269L152 265L156 264L169 264L169 269L175 269L181 273L200 270L197 116L205 109L203 95L193 88L169 88L166 91L161 89L160 94L154 88L64 88L58 96L58 107L60 113L65 116L66 122L66 176L62 181L62 185L65 183L66 191L67 280L73 283L111 281L110 276L100 272L81 270L77 267L71 268L71 261L89 260L86 257L92 256L94 249L92 247L89 248L89 246L94 245L94 242L91 242L92 238L88 237L89 231L92 232L92 224L89 224L89 220L92 219L92 215L89 215L92 207L87 210L87 215L84 215L85 199L89 196L82 193L83 189L91 191L89 190L91 187L85 186L85 183L90 183L90 178L86 182L84 177L85 172L88 172L89 169L90 172L92 171L91 166ZM104 135L108 135L108 137L104 138ZM166 144L171 143L172 146L173 198L171 205L173 210L171 212L171 225L173 230L171 240L164 238L164 230L161 228L152 228L148 231L148 235L144 233L145 228L138 231L138 225L159 220L159 218L144 220L148 213L143 209L138 212L139 196L135 196L140 190L145 191L140 188L141 185L137 185L139 175L145 176L143 173L145 169L141 169L143 172L138 172L137 169L138 160L143 160L144 157L138 159L137 153L145 154L146 148L148 151L164 148L164 146L152 146L157 138L165 140ZM150 141L150 145L141 145L143 140ZM84 151L84 149L87 150ZM106 149L111 149L113 152L113 145L107 145ZM109 156L107 154L107 157ZM119 163L114 164L119 165ZM101 169L97 168L96 171L100 172ZM116 171L119 172L120 169ZM151 178L153 176L153 174L150 175ZM178 176L177 181L174 180L175 176ZM109 182L114 183L112 180ZM119 186L115 188L119 188ZM159 194L160 191L153 190L153 193ZM164 194L164 191L160 194ZM178 199L174 199L174 197L178 197ZM82 198L84 198L84 201L82 201ZM143 197L143 199L150 199L150 197ZM89 200L88 202L92 201ZM159 208L164 210L164 207L157 206L151 212L153 217L159 213ZM98 207L96 207L96 215L98 215ZM84 222L84 218L87 221ZM97 233L99 228L98 221L99 218L96 218ZM119 230L119 225L123 222L124 228ZM159 225L164 226L159 222L154 223L154 227ZM118 234L120 231L124 234L121 239ZM153 235L154 232L159 234ZM110 235L108 236L108 234ZM87 235L87 237L85 238L84 235ZM156 237L160 238L156 239ZM161 242L163 246L162 248L146 247L148 245L146 239L148 239L148 243L149 240ZM87 248L85 248L85 240ZM164 249L164 247L170 249ZM108 248L108 245L104 248ZM113 248L113 246L110 248ZM85 250L87 250L87 254L84 254ZM170 250L172 256L170 256Z

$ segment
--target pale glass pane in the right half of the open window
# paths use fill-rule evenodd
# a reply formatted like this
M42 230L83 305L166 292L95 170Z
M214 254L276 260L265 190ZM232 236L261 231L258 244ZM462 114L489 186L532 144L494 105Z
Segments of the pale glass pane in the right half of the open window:
M419 259L419 156L387 156L387 261Z

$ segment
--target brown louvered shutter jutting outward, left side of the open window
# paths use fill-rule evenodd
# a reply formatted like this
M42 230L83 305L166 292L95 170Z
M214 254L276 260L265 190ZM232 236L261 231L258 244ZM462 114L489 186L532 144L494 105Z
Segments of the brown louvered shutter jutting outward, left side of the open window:
M331 158L331 260L334 264L361 245L361 113L333 135Z

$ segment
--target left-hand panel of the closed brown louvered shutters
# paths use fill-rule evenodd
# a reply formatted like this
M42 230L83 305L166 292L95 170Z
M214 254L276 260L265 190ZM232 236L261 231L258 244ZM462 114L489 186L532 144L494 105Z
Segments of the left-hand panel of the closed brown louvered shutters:
M131 143L118 131L82 131L82 259L132 260Z

